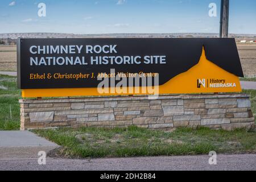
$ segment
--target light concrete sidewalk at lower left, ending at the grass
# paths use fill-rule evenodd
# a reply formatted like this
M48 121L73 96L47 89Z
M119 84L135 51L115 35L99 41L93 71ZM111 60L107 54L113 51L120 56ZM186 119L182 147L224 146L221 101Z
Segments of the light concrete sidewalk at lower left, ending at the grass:
M38 158L39 151L47 153L56 147L30 131L0 131L0 159Z

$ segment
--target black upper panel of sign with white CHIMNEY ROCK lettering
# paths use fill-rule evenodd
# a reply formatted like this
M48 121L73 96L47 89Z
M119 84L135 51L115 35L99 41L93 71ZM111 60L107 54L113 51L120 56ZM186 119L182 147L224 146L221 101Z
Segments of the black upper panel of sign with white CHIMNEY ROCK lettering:
M96 88L98 74L108 74L110 69L159 73L162 85L196 65L203 46L209 61L243 77L233 38L19 39L18 86Z

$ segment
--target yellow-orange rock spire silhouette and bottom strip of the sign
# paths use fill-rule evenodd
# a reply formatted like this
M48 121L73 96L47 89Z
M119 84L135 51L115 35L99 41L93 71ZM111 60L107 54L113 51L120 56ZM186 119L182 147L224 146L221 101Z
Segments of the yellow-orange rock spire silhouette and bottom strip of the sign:
M160 73L159 73L160 74ZM113 90L114 89L114 90ZM152 87L108 88L100 93L97 88L55 88L22 89L22 97L66 97L66 96L112 96L127 94L176 94L176 93L210 93L241 92L239 78L207 60L203 48L199 63L188 71L171 78L165 84ZM139 90L139 92L138 92ZM157 93L156 93L157 90Z

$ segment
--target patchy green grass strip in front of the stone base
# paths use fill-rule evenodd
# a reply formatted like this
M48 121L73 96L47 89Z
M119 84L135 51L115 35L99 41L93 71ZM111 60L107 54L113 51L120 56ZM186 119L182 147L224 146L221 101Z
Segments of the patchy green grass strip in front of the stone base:
M256 152L256 132L245 129L224 131L199 127L178 128L169 132L130 126L113 129L60 128L34 132L62 146L51 156L71 158L196 155L208 154L212 150L236 154Z

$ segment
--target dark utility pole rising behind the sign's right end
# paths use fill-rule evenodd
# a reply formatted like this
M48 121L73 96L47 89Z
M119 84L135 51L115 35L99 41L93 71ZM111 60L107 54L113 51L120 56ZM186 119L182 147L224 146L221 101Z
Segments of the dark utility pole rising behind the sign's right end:
M229 0L221 0L220 38L229 36Z

